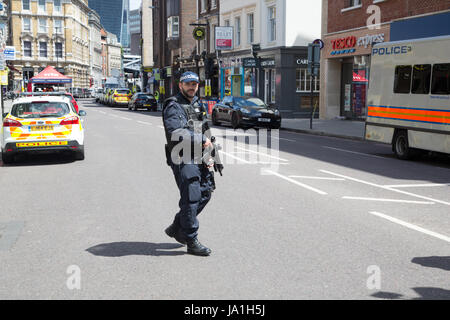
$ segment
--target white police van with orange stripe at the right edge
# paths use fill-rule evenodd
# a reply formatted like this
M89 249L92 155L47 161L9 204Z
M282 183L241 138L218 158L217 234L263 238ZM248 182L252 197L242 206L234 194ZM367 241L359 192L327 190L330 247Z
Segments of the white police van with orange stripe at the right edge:
M380 43L371 61L366 140L450 154L450 36Z

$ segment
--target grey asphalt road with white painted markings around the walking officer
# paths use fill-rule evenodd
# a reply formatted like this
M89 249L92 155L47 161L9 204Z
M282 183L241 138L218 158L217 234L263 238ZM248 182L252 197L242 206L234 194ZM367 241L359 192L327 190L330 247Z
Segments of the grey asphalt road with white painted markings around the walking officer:
M164 233L161 113L80 108L84 161L0 164L0 299L450 299L448 161L286 130L269 153L214 126L225 170L195 257Z

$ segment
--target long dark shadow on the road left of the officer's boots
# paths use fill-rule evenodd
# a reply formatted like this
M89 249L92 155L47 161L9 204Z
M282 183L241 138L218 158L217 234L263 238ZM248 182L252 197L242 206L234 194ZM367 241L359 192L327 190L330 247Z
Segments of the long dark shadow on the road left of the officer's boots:
M102 243L86 249L87 252L102 257L123 256L180 256L186 254L186 250L173 251L183 248L176 243L151 243L151 242L112 242Z

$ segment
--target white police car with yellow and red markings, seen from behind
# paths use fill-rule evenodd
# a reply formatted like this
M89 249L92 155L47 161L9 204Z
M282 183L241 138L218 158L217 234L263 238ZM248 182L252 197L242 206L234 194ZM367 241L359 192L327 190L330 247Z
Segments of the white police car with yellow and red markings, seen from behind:
M14 100L4 114L2 161L12 163L22 152L71 151L84 160L84 120L86 112L76 112L65 95L30 95Z

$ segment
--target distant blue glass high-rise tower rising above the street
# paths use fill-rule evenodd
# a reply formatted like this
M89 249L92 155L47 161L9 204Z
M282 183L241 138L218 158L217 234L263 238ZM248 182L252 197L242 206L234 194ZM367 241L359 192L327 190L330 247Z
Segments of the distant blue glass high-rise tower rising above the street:
M116 35L126 48L130 45L129 0L89 0L89 7L100 15L103 27Z

